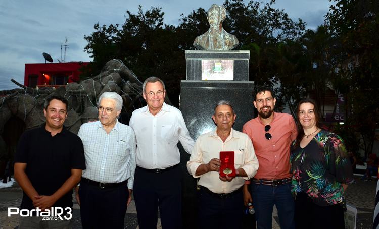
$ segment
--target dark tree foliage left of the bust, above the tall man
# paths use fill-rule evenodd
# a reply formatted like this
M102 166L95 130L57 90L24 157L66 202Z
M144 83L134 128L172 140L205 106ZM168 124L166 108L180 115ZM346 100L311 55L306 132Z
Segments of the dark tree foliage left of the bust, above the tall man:
M165 81L171 101L177 103L174 95L179 94L180 79L185 78L185 60L176 27L163 23L161 8L144 12L139 6L137 14L126 14L121 27L96 24L95 31L84 37L88 41L85 51L93 58L92 74L99 73L110 59L120 59L141 80L157 76Z

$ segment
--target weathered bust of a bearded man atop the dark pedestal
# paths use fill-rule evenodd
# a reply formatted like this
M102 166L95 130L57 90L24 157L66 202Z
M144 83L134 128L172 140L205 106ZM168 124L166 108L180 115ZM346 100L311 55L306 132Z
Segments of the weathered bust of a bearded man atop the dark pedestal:
M213 4L208 10L209 30L196 37L194 46L200 50L231 50L239 44L235 35L226 32L222 28L222 22L226 17L226 9L218 4Z

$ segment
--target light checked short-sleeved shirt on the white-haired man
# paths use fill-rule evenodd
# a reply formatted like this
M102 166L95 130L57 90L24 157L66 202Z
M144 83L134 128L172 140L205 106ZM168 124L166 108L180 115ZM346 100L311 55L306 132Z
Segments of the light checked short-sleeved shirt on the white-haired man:
M128 180L133 189L135 135L129 126L119 123L107 134L100 121L85 123L78 136L84 146L85 166L82 177L104 183Z

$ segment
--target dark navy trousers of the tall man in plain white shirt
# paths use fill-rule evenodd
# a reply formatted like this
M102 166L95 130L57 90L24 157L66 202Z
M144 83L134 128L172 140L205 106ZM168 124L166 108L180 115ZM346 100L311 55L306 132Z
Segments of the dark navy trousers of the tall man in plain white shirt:
M158 207L163 229L182 227L180 166L159 174L137 166L133 195L140 229L157 228Z

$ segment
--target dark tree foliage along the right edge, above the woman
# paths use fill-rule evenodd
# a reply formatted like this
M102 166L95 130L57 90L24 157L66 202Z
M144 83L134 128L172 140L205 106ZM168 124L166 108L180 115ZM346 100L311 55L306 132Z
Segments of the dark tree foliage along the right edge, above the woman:
M337 76L345 86L347 125L342 130L352 136L358 133L367 155L372 152L379 127L379 2L333 2L326 22L339 41L332 54Z

